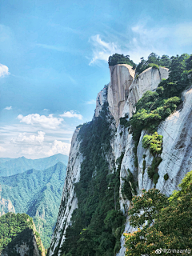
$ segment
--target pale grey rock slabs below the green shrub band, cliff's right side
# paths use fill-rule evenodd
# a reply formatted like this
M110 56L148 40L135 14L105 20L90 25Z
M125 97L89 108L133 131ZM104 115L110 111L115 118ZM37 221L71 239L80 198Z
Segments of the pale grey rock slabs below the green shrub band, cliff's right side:
M182 93L183 105L180 110L171 114L164 122L158 126L158 134L163 136L162 142L162 162L158 166L158 183L156 188L161 190L163 194L169 196L174 190L178 190L178 184L187 172L192 170L192 88ZM122 136L119 134L122 133ZM153 161L150 150L142 147L142 138L146 134L146 130L142 130L140 141L138 143L138 170L134 167L134 141L132 134L127 130L118 126L118 132L114 144L114 152L118 158L122 151L125 152L122 159L120 176L125 178L128 175L128 169L138 179L138 194L142 193L142 189L150 190L154 187L154 182L148 177L147 168ZM146 170L142 174L143 155L146 155ZM168 180L164 175L168 174ZM122 178L120 179L120 207L126 214L130 207L130 201L124 200L121 194ZM127 218L126 232L133 232L134 228L130 226ZM117 256L125 255L124 236L122 235L122 248Z

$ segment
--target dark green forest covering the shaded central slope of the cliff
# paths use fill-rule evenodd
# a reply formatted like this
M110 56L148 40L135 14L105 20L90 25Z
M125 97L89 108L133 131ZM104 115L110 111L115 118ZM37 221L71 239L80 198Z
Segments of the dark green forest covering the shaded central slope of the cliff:
M117 169L109 169L106 154L110 157L110 114L105 104L98 118L81 126L78 139L84 156L81 178L75 183L78 209L74 210L71 226L66 230L62 244L65 256L114 256L120 249L120 237L126 218L119 210L119 186L122 156ZM55 251L54 255L58 255Z

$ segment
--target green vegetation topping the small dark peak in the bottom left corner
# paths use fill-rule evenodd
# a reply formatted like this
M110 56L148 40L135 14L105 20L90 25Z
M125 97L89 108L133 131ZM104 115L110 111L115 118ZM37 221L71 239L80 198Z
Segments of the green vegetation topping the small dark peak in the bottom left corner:
M34 229L33 219L29 215L13 213L2 215L0 218L0 253L6 246L9 246L9 256L15 256L16 252L12 253L14 246L24 242L24 240L26 241L26 239L31 239L32 234L35 235L39 253L42 254L41 239L38 232ZM28 246L31 246L28 241L26 242Z

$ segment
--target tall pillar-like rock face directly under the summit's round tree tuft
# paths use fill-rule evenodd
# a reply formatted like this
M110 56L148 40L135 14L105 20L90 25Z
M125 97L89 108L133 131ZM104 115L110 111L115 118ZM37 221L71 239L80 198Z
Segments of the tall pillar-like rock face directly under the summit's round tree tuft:
M110 66L110 85L108 87L108 102L110 113L118 125L119 118L129 95L130 85L134 80L134 70L127 64Z

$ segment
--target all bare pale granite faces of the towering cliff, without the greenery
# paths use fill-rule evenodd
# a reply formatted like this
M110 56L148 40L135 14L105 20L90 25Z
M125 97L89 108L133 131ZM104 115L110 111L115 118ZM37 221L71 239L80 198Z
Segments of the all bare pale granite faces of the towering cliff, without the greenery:
M149 68L134 78L134 70L129 65L110 66L110 84L106 86L97 98L95 116L99 116L102 106L105 102L109 104L111 116L114 118L117 130L114 130L114 138L111 139L110 145L112 154L107 159L109 166L112 161L116 161L122 152L120 166L120 189L119 202L122 212L126 215L130 207L130 201L122 196L122 178L128 176L128 169L138 180L138 194L144 188L149 190L154 187L153 181L148 177L147 171L143 173L143 155L146 155L146 170L151 165L153 156L150 150L142 147L142 138L146 134L146 130L142 130L142 134L138 143L137 157L138 167L134 166L134 140L132 134L129 133L125 126L119 124L119 118L126 114L130 118L135 111L135 103L138 102L147 90L155 90L162 78L167 78L169 70L160 67L158 69ZM107 94L107 97L106 97ZM182 107L175 110L165 121L158 126L158 134L163 135L163 150L161 154L162 162L158 166L158 183L156 188L164 194L171 194L173 190L178 189L184 175L192 170L192 89L191 87L182 93ZM113 119L112 118L112 119ZM113 123L111 122L111 126ZM79 129L79 128L78 128ZM71 142L70 158L67 167L66 182L62 194L62 203L58 214L58 222L54 231L50 251L48 255L61 255L60 249L62 242L65 240L66 226L70 224L70 217L75 208L78 207L78 199L74 194L74 182L78 182L80 178L80 170L82 163L82 155L79 152L80 143L77 139L78 129L74 132ZM164 175L168 174L169 179L165 181ZM126 220L127 232L134 229ZM124 237L121 238L121 250L118 256L125 255Z

